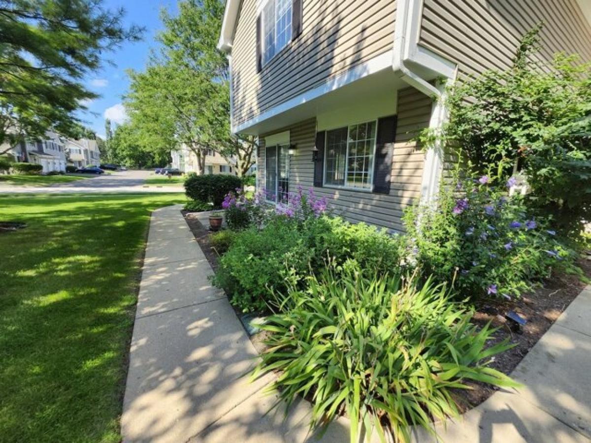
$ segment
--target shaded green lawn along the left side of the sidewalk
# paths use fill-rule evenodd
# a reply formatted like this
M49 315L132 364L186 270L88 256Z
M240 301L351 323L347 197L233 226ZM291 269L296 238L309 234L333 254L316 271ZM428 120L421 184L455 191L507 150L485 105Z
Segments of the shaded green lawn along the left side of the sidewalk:
M150 211L181 194L0 197L0 441L118 442Z

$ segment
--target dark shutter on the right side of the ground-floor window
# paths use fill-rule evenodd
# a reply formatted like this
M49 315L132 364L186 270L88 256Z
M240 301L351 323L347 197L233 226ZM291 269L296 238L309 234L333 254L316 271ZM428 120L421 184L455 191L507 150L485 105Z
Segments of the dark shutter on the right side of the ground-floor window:
M374 192L390 193L392 174L392 154L396 138L396 116L391 115L378 120L378 135L375 146Z

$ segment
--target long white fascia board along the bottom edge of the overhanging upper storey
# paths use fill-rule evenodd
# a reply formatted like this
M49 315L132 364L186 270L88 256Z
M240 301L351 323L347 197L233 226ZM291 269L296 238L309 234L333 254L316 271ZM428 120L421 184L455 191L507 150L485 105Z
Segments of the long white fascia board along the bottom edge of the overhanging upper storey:
M268 120L276 115L286 112L292 108L296 108L296 106L303 105L304 103L317 99L318 97L337 90L340 87L346 86L349 83L353 83L356 80L362 79L366 76L371 76L371 74L375 74L384 69L391 68L392 51L390 50L380 54L379 56L371 58L371 60L349 69L348 71L345 71L344 73L339 74L330 80L327 80L314 89L310 89L304 93L301 93L300 95L297 95L296 97L287 100L284 103L281 103L281 105L274 106L273 108L257 115L256 117L246 120L246 122L241 123L240 125L232 125L232 132L240 133L251 126L256 125L257 123L264 122L265 120Z

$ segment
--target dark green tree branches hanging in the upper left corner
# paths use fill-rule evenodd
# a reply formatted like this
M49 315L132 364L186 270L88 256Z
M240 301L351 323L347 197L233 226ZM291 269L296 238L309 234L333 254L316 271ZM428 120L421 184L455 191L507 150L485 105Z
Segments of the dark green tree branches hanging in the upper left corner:
M141 35L123 17L102 0L0 0L0 144L76 133L74 112L97 96L82 80L106 51Z

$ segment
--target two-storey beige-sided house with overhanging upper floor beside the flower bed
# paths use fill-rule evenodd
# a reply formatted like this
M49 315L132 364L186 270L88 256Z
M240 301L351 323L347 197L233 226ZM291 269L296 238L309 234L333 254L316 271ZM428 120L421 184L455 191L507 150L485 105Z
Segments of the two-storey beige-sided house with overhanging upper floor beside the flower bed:
M590 0L228 0L232 132L258 136L258 188L313 187L353 222L403 230L444 168L414 141L443 123L444 85L510 66L540 22L542 57L591 60Z

